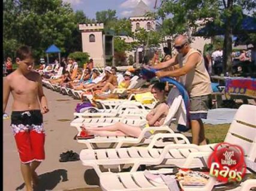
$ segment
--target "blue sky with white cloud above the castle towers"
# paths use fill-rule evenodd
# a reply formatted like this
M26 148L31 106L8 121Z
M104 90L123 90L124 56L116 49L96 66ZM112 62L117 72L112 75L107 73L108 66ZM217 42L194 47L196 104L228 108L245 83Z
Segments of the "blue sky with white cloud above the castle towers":
M74 10L83 10L89 18L95 18L97 11L116 10L116 16L119 18L129 17L133 8L140 0L63 0L70 2ZM152 10L155 0L143 0ZM161 0L157 1L159 5Z

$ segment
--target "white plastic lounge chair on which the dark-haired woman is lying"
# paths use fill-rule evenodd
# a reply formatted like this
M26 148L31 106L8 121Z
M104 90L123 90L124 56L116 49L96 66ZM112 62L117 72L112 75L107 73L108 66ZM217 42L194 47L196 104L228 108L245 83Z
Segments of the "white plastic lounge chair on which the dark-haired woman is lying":
M90 138L87 140L77 140L77 142L86 144L88 149L92 149L92 147L95 147L95 148L102 147L103 144L106 144L106 143L109 143L109 144L111 144L111 147L116 147L116 148L120 148L120 147L124 146L124 144L149 143L148 141L150 141L152 139L154 134L150 137L147 137L145 135L147 131L154 130L155 133L158 131L167 131L169 133L174 133L173 130L171 130L169 126L171 124L171 121L173 121L174 117L176 117L176 119L179 119L179 116L177 116L177 115L182 115L182 113L178 112L179 108L182 106L181 103L182 103L181 96L178 96L177 98L175 98L173 101L173 104L171 104L168 115L165 118L164 125L162 125L161 127L143 128L143 130L138 138L129 137L129 136L115 136L115 137L114 136L113 137L95 136L95 138ZM94 118L92 118L92 119L94 119ZM101 118L101 119L109 119L109 118ZM135 119L134 121L137 122L138 120ZM136 124L132 124L132 125L136 125ZM78 131L82 131L80 126L76 126L76 127L77 127ZM80 132L78 135L80 135ZM180 141L180 143L183 143L183 142L184 142L184 140Z

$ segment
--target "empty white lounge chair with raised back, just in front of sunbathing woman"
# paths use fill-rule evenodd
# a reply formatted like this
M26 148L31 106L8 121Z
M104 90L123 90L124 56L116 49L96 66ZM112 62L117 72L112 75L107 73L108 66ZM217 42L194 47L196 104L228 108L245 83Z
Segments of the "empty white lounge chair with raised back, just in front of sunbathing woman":
M245 113L255 113L256 106L243 105L237 110L234 121L230 125L226 143L237 144L245 150L245 155L252 161L256 158L256 118L245 118ZM252 127L251 125L254 125ZM157 129L157 128L155 128ZM242 132L242 133L241 133ZM239 137L237 137L239 135ZM167 144L163 149L153 148L156 140L176 138L180 136L186 144ZM131 171L137 171L140 165L171 164L183 167L190 163L192 158L200 156L201 152L211 153L216 144L197 146L190 144L187 138L180 134L156 134L147 147L129 147L120 149L83 149L80 159L85 166L94 167L98 175L101 173L100 165L134 164ZM247 140L247 141L245 141ZM252 142L252 143L251 143ZM255 152L255 153L253 153ZM251 158L250 158L251 157ZM200 159L194 160L190 168L203 167Z

